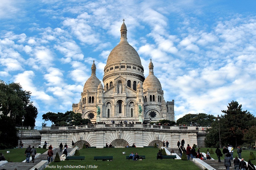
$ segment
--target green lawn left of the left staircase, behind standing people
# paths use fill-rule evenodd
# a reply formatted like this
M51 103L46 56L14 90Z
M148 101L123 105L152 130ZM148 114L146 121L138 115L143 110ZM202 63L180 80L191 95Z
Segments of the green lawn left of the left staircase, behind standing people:
M10 153L7 154L6 151L10 151ZM26 148L0 150L0 152L3 153L5 159L8 160L8 158L10 158L11 162L22 162L22 161L24 161L26 159L26 156L24 155L25 151L26 151ZM36 153L38 153L38 154L39 153L43 154L46 151L47 151L47 149L36 148Z

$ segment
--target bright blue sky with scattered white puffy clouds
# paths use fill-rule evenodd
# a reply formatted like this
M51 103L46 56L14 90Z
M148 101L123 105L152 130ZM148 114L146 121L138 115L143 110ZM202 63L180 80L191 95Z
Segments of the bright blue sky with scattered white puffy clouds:
M41 126L72 110L93 60L102 81L125 18L148 76L150 58L175 120L221 115L232 100L255 114L256 1L2 0L0 79L31 91ZM50 125L50 124L48 124Z

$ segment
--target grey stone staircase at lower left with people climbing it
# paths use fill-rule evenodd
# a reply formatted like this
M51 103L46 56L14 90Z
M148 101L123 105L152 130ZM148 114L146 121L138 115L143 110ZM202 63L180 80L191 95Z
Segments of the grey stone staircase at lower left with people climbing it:
M70 153L70 151L72 151L73 148L68 148L67 151L68 153ZM59 156L61 156L61 152L59 152L59 148L53 148L53 161L56 155L56 152L59 153ZM24 158L26 159L25 155L23 154ZM31 158L31 156L30 156ZM41 161L46 161L47 160L47 151L39 156L37 156L35 158L34 163L32 163L32 161L29 161L29 163L26 162L8 162L6 164L3 164L2 166L0 166L0 169L6 169L6 170L14 170L15 168L17 168L17 170L29 170L31 168L33 168L36 164L40 163ZM51 160L50 160L51 161Z

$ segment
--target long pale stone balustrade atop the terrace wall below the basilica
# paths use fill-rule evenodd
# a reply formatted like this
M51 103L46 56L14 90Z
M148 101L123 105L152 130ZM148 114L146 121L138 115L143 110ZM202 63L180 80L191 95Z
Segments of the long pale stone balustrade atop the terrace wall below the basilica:
M196 130L195 126L159 126L159 125L144 125L144 124L96 124L82 126L61 126L61 127L42 127L42 130L77 130L89 128L143 128L143 129L164 129L164 130ZM198 130L200 133L204 130Z

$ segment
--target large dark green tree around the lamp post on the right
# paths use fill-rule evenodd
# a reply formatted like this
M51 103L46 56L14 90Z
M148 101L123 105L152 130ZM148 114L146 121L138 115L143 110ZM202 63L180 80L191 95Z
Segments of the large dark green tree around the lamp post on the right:
M255 118L252 114L242 111L242 105L237 101L231 101L227 106L227 110L223 110L224 115L220 116L220 122L215 121L209 129L209 134L205 138L207 147L219 146L219 123L221 131L221 141L223 145L232 144L238 146L246 140L244 134L253 125Z

